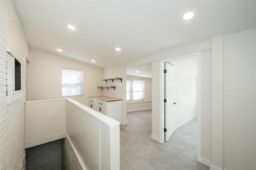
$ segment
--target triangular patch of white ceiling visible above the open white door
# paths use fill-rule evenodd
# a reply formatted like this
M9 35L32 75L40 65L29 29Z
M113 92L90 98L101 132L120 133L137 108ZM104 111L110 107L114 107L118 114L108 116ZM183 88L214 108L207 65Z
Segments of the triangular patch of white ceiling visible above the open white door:
M197 76L197 57L196 56L176 59L168 63L173 65L175 68L182 69L183 71L185 71L190 75Z

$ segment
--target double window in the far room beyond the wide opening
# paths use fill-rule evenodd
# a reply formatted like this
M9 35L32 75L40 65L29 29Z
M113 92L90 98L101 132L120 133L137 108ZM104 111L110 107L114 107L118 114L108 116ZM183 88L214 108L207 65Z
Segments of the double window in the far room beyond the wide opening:
M144 84L143 80L127 80L126 100L144 100Z

